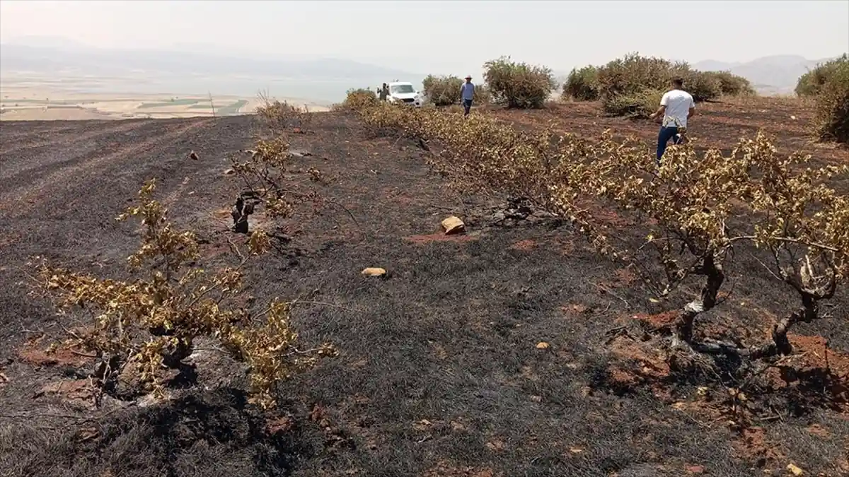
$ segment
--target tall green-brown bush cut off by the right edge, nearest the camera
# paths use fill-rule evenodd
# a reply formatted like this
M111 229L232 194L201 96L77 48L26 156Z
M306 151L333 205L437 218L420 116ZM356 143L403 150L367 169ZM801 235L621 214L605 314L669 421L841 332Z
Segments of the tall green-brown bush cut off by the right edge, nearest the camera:
M824 141L849 143L849 61L844 57L829 66L829 75L818 87L815 126Z

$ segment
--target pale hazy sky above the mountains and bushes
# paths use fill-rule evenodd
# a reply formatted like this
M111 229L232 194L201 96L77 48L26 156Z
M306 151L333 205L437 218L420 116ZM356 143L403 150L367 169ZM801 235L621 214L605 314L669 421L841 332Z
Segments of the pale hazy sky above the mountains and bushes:
M477 72L509 54L569 70L633 51L690 62L836 56L849 50L849 0L0 0L0 41L20 36L114 48L202 43L223 53L321 54L422 73Z

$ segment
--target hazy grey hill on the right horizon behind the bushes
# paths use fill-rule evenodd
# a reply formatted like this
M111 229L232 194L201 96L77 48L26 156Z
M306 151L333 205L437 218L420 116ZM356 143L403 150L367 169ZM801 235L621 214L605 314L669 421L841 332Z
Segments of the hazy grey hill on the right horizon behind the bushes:
M796 81L820 63L831 58L806 59L798 55L776 55L753 59L745 63L728 63L708 59L695 63L697 70L731 71L751 81L760 93L793 93Z

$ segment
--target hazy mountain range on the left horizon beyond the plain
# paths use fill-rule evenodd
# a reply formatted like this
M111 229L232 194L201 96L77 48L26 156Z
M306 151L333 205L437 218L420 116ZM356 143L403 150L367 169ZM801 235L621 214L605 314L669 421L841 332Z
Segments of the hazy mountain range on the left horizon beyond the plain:
M256 58L237 52L122 50L93 48L50 36L24 37L0 43L0 74L87 76L115 78L107 87L138 93L256 94L271 88L284 94L319 101L345 98L350 87L378 87L383 81L424 79L423 74L368 65L350 59L318 56Z

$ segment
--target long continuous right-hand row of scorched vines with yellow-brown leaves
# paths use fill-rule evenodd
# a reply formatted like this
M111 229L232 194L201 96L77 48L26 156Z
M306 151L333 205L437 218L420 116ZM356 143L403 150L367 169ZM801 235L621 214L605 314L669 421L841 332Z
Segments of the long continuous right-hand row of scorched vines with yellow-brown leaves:
M669 336L670 356L683 358L679 363L703 354L756 360L790 353L788 329L830 317L820 304L849 276L849 197L828 185L849 174L849 166L806 167L809 157L782 156L762 134L741 140L728 155L673 146L657 167L644 143L615 140L610 131L599 138L520 132L484 115L388 104L360 114L370 126L438 143L441 152L431 161L455 180L521 195L570 217L599 251L637 266L661 300L700 280L700 296L672 326L655 330ZM588 202L639 216L649 234L635 247L633 239L603 232L581 206ZM768 257L764 267L796 293L799 306L773 324L765 343L696 340L696 317L717 306L729 256L746 244ZM845 326L840 319L835 324Z

